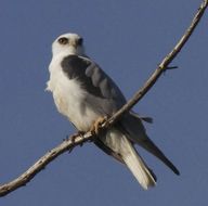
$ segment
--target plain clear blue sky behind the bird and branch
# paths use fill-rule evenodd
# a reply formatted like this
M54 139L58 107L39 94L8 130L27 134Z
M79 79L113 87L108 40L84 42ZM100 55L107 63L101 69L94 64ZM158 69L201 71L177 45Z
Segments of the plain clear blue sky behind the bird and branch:
M202 0L1 0L0 183L16 178L75 132L44 92L51 43L84 38L87 53L129 99L190 25ZM139 150L157 175L143 191L128 169L87 143L63 154L2 206L206 206L208 202L208 13L155 87L134 107L147 133L178 166L177 177Z

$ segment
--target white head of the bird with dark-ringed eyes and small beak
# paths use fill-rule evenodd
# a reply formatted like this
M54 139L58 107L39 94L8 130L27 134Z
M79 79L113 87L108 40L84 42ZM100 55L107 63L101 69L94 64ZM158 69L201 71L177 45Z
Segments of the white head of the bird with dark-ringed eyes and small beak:
M84 55L83 39L77 34L64 34L55 39L52 53Z

